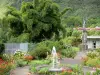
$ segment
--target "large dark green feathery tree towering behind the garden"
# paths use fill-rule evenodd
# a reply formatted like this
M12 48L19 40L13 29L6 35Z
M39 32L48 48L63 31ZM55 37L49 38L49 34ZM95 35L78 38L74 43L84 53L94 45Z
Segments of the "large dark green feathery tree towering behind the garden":
M60 12L59 6L51 0L34 0L23 2L20 10L9 7L3 20L10 27L10 37L18 39L14 42L39 42L52 37L59 39L60 34L64 36L61 18L66 11ZM9 40L13 42L12 38Z

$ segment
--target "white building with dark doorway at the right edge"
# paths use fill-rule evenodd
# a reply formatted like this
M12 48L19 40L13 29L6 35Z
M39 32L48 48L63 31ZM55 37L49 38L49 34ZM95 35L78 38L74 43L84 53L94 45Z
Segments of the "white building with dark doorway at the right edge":
M100 48L100 36L87 36L88 49Z

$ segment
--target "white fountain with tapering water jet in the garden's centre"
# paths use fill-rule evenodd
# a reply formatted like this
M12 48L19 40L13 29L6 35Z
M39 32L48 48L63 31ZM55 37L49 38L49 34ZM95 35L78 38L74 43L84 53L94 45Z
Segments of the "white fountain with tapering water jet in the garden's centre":
M60 67L60 62L58 60L58 56L56 53L56 48L54 46L52 49L52 65L51 65L51 68L49 69L49 71L52 71L52 72L62 71L62 68Z

